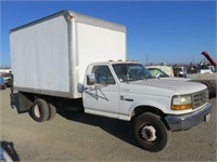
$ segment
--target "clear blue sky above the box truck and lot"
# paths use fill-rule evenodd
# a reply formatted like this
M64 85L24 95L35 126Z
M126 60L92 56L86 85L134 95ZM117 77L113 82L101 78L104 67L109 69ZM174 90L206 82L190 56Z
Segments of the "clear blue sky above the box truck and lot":
M216 1L7 1L0 3L0 66L10 66L9 31L62 10L123 24L131 60L197 64L217 60Z

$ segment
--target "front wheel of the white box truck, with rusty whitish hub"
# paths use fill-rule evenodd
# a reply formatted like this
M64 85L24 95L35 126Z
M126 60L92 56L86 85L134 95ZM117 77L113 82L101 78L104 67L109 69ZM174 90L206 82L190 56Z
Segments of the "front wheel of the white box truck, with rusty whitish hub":
M133 123L135 137L140 146L151 152L158 152L170 141L170 131L161 121L159 116L142 113Z

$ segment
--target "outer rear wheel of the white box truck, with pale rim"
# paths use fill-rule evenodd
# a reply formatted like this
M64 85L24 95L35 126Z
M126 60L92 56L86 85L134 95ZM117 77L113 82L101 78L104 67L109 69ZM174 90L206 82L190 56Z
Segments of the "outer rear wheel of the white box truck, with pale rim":
M30 108L29 116L37 122L44 122L49 117L49 106L43 99L36 99Z

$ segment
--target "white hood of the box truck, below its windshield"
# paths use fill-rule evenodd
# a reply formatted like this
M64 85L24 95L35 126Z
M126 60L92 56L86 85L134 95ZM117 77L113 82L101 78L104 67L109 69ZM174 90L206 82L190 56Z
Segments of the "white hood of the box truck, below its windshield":
M167 79L139 80L120 85L120 91L161 96L192 94L205 89L206 86L201 83Z

